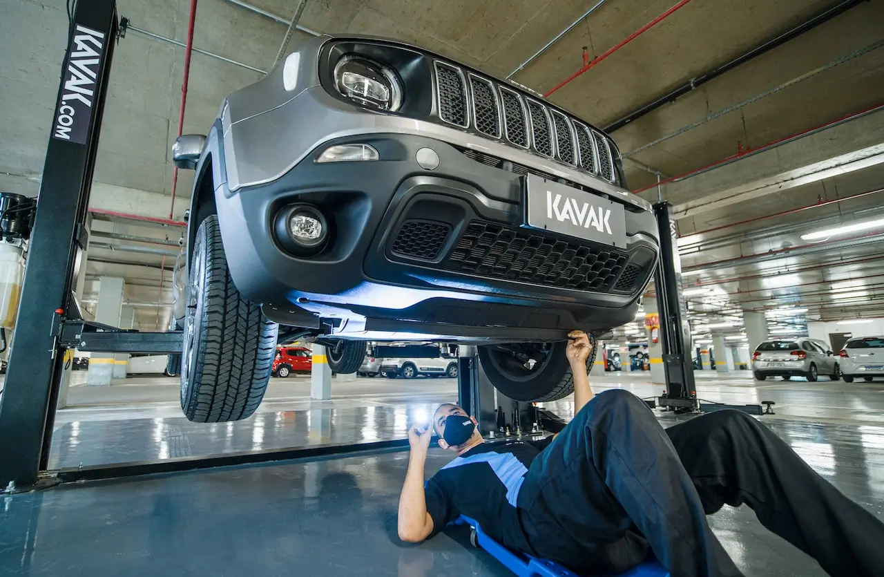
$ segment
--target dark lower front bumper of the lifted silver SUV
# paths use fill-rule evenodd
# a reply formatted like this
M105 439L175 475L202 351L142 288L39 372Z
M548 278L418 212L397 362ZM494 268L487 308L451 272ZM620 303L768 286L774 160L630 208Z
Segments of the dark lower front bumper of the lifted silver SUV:
M316 164L323 150L342 143L368 143L381 159ZM433 170L416 160L425 148L438 154ZM622 250L529 233L520 227L522 174L486 164L492 158L428 136L351 135L323 142L278 180L235 192L223 182L217 213L233 281L271 319L305 327L319 327L319 318L338 319L334 330L353 338L400 332L538 340L633 319L657 259L652 213L625 204ZM274 238L274 215L296 202L319 207L331 221L333 242L315 258L295 258ZM446 228L445 238L434 241L435 254L422 248L435 234L428 223L436 223L437 232ZM481 248L484 242L528 242L524 235L554 253L538 263L548 265L552 282L509 278L512 263L491 251L477 263L467 262L469 250L458 252L464 239ZM568 287L568 258L583 255L578 250L602 261L604 290ZM547 262L553 256L555 262Z

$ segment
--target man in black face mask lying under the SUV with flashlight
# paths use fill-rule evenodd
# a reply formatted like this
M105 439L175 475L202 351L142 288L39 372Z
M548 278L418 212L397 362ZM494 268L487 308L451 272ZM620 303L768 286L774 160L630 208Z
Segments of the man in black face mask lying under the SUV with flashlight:
M403 541L423 541L462 513L510 549L578 573L620 573L650 547L673 577L741 575L705 515L744 503L830 575L884 574L884 524L770 429L737 411L664 429L627 391L593 397L589 338L568 337L575 419L558 435L485 444L476 419L443 404L432 425L439 446L458 457L424 488L432 430L408 432Z

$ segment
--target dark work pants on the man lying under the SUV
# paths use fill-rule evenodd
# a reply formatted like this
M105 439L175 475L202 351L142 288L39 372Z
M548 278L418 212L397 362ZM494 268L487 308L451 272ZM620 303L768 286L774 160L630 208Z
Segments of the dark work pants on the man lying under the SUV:
M743 412L664 429L623 390L587 404L533 462L518 505L530 551L619 573L650 546L674 577L741 575L706 523L748 504L831 575L880 575L884 524Z

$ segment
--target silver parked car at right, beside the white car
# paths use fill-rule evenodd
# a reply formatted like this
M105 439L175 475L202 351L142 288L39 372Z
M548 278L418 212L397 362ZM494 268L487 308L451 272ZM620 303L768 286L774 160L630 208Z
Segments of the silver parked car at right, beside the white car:
M758 345L752 355L752 371L757 381L767 377L806 377L816 381L820 374L841 378L840 358L835 357L826 342L816 339L776 339Z

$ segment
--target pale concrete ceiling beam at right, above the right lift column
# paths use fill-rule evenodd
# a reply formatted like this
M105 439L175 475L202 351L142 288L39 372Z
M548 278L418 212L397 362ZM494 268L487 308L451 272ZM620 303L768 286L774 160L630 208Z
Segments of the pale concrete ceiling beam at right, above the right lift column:
M882 163L884 111L879 111L668 182L663 197L674 204L674 217L683 219Z

